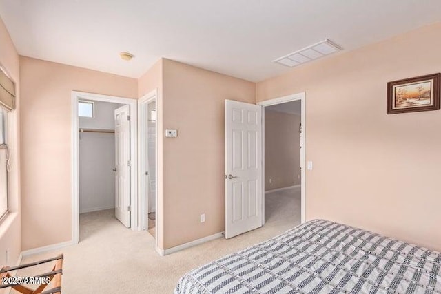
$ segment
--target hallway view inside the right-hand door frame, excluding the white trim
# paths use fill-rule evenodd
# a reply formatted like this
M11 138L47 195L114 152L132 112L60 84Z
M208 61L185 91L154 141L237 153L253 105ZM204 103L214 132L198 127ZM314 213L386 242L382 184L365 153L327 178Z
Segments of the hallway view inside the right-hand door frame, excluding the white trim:
M265 107L265 223L300 224L301 101Z

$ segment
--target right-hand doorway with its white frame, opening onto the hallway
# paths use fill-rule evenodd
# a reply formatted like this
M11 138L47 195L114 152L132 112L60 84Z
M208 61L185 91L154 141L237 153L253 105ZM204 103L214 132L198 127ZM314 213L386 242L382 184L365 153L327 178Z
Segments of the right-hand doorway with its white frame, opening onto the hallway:
M263 217L278 221L283 211L294 224L305 222L305 93L262 101ZM269 210L269 211L267 211ZM266 219L264 220L265 223Z

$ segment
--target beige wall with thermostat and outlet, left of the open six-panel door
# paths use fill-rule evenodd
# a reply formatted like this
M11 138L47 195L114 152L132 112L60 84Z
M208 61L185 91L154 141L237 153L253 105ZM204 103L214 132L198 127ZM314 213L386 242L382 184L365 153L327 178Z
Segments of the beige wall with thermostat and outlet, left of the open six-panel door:
M255 98L255 83L163 60L160 132L177 129L178 137L163 138L161 248L224 230L224 103L254 103ZM204 223L199 222L201 213Z

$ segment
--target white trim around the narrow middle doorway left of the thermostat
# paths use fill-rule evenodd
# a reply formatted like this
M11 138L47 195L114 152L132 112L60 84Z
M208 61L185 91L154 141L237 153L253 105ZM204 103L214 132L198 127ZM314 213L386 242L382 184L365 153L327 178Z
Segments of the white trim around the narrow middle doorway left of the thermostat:
M143 107L144 105L148 105L152 101L156 102L156 134L155 134L155 148L156 148L156 156L155 156L155 169L156 169L156 178L155 178L155 212L158 213L158 89L154 89L151 92L148 92L138 100L138 138L139 138L139 155L138 155L138 166L139 166L139 180L138 180L138 191L139 191L139 197L138 201L140 203L140 214L139 214L139 231L143 231L148 229L147 228L147 205L149 201L149 195L148 195L148 189L147 193L145 182L143 181L143 162L147 162L148 165L148 158L144 158L145 155L145 148L147 146L145 145L145 134L147 130L145 129L145 125L143 125L143 122L145 122L145 116L143 114ZM155 236L155 242L156 242L156 248L158 248L158 216L156 215L155 220L155 227L156 227L156 236Z

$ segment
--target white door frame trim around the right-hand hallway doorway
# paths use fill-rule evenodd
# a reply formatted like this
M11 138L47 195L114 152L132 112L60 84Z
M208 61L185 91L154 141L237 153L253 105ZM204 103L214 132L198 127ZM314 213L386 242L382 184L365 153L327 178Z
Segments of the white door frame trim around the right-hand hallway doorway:
M270 105L277 105L281 103L287 103L291 101L301 101L301 123L302 123L302 135L303 145L300 149L300 167L301 171L301 191L300 191L300 221L306 222L306 92L300 92L278 98L273 98L265 101L259 101L257 105L267 107ZM265 109L262 112L262 193L263 193L263 224L265 224Z

